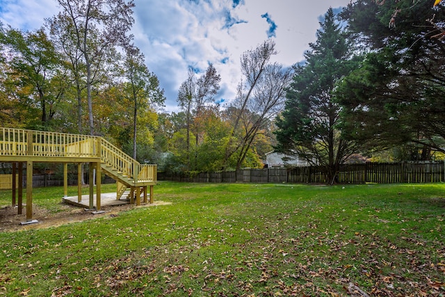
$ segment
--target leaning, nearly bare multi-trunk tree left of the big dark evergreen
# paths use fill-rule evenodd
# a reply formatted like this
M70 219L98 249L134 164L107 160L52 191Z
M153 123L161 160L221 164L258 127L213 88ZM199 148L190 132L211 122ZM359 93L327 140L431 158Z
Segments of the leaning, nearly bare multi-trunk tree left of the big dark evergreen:
M275 54L275 42L269 39L241 55L243 79L231 104L233 128L227 140L223 168L229 165L230 159L235 160L236 168L241 168L254 142L266 133L267 124L282 110L291 69L270 63Z

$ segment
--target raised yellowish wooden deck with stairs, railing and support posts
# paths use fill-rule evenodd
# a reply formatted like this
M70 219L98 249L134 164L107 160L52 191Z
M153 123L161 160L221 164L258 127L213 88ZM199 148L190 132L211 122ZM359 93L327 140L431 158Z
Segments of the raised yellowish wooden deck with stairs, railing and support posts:
M63 163L64 164L64 194L67 194L67 164L78 164L78 195L81 195L81 166L89 163L90 181L96 176L96 194L90 183L88 205L101 208L101 179L106 174L118 182L116 200L123 193L130 191L135 197L136 204L140 204L140 194L147 201L147 187L149 186L150 202L153 202L153 186L156 184L157 166L140 164L135 159L122 152L102 137L77 134L63 134L26 129L0 127L0 162L13 164L13 206L18 205L19 214L22 211L22 182L15 182L16 175L22 181L23 168L26 167L26 222L35 222L32 214L32 177L34 163ZM18 169L17 169L18 166ZM93 173L95 170L95 173ZM18 190L17 197L16 191ZM133 199L131 199L133 202Z

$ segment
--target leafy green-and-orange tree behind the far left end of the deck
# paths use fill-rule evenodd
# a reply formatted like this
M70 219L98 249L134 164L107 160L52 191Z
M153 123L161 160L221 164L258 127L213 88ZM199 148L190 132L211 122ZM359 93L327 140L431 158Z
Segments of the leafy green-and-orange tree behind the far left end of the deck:
M0 43L3 54L8 56L9 79L5 83L10 85L9 96L28 105L29 111L40 109L40 120L31 125L49 129L66 88L54 46L43 29L22 32L10 27L1 29Z

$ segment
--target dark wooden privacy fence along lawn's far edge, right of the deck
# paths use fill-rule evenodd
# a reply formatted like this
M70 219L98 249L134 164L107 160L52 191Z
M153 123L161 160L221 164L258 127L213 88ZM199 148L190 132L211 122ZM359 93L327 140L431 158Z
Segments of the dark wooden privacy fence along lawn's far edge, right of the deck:
M327 183L323 166L302 166L293 169L240 169L222 172L158 172L159 180L177 182L256 182L256 183ZM399 162L345 164L336 175L338 184L396 184L444 182L445 166L439 162Z

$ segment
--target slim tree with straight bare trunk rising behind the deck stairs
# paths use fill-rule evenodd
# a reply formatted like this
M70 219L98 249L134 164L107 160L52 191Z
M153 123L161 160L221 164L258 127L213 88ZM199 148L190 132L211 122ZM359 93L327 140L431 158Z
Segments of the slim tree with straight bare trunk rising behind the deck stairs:
M133 106L133 159L136 159L138 111L148 109L152 104L163 104L165 97L159 88L158 78L149 72L144 55L136 47L127 47L124 77L128 81L125 92Z

